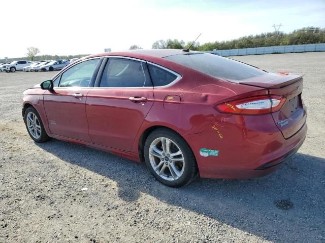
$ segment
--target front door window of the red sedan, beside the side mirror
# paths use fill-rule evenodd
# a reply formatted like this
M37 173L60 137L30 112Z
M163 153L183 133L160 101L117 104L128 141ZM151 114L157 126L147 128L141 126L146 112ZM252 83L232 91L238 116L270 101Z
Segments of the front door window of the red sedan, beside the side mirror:
M91 77L100 59L91 59L74 65L61 74L59 87L89 87Z

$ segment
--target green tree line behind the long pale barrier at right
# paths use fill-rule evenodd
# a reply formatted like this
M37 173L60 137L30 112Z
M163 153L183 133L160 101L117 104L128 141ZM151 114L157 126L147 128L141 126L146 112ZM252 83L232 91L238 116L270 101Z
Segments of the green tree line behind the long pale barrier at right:
M183 49L188 48L192 42L179 41L178 39L167 39L166 41L160 39L152 44L152 48L169 48L169 49ZM285 46L285 45L300 45L300 44L317 44L325 43L325 28L319 27L304 27L296 29L290 33L280 31L267 32L256 35L243 36L231 41L222 42L208 42L203 45L195 43L191 50L194 51L212 51L229 50L240 48L253 47L271 47L271 46Z

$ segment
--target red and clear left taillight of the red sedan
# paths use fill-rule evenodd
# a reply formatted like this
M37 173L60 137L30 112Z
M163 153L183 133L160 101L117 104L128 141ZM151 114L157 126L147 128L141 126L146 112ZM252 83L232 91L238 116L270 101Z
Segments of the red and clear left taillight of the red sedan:
M255 96L224 102L216 106L220 112L257 115L275 112L281 109L286 98L277 95Z

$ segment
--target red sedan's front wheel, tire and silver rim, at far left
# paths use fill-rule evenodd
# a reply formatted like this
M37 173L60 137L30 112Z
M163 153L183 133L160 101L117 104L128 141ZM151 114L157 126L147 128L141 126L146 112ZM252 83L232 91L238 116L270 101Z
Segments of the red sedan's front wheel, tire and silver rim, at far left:
M25 111L24 121L29 136L38 143L49 140L46 134L41 117L34 107L28 107Z

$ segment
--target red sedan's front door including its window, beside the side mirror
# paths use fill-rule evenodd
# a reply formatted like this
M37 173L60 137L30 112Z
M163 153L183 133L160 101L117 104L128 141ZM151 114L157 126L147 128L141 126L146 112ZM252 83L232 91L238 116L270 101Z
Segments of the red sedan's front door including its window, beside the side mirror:
M54 80L54 90L44 93L44 108L52 134L91 142L86 117L86 98L101 60L82 61Z

